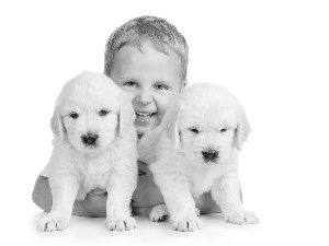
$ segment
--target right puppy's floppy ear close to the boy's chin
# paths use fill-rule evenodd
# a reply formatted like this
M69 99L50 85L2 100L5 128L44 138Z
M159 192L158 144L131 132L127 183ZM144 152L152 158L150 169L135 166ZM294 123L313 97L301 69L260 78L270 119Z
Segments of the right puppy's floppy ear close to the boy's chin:
M180 106L177 104L168 109L162 120L163 131L173 141L174 149L178 149L180 144L180 133L178 129L179 113Z

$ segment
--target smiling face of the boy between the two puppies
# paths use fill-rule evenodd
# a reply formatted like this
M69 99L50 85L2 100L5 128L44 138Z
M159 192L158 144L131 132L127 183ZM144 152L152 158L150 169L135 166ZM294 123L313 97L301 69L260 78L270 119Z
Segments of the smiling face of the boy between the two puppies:
M144 42L141 51L122 47L114 56L111 79L131 97L136 113L135 126L145 133L160 125L170 103L181 87L181 60L167 50L158 51Z

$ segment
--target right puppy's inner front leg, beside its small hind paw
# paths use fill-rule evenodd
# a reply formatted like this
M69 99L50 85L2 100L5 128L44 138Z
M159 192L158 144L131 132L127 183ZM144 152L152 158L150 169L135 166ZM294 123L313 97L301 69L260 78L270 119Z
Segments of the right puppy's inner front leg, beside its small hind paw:
M170 213L172 226L181 232L194 232L202 223L195 213L195 202L184 177L155 176Z

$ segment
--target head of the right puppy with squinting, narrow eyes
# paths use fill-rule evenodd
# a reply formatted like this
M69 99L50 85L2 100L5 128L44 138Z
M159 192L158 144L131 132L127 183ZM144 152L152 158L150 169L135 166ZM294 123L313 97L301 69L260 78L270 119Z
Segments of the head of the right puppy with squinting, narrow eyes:
M236 97L220 85L188 87L163 118L164 133L193 163L224 163L241 150L250 126Z

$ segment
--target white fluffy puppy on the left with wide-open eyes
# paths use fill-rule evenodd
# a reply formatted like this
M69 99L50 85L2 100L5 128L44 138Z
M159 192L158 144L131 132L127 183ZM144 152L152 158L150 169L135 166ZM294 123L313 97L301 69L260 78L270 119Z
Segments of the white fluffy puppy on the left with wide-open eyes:
M135 113L125 93L106 75L83 72L70 80L56 101L53 154L46 167L52 211L41 231L68 227L75 200L106 189L109 230L133 230L129 203L137 185Z

